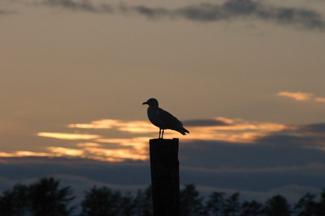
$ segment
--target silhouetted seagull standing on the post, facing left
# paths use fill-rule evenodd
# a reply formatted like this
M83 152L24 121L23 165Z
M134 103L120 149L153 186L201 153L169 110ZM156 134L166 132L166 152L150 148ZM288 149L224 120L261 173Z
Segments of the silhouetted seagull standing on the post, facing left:
M182 135L186 135L186 133L189 134L189 132L183 127L183 124L173 115L168 113L167 111L164 111L163 109L159 108L158 106L158 100L156 98L150 98L146 102L143 102L142 104L148 104L148 118L149 121L156 127L159 128L159 139L160 139L160 133L162 130L161 139L164 136L164 130L174 130Z

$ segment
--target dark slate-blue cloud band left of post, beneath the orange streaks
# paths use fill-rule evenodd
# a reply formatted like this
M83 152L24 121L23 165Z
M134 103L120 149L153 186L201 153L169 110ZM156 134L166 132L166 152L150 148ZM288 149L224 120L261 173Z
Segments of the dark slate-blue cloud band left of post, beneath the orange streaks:
M35 176L74 175L116 185L150 184L148 162L107 163L80 158L21 157L2 158L1 177L7 179Z

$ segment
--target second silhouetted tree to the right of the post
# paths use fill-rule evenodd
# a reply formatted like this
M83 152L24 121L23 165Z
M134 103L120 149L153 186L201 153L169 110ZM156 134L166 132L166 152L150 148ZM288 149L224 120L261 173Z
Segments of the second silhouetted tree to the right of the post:
M211 216L221 216L224 206L224 193L213 192L206 204L206 212Z

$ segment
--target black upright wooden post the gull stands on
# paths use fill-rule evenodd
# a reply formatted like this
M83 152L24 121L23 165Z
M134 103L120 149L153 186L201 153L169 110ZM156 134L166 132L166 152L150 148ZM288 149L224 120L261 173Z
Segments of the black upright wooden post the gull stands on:
M178 139L150 140L153 216L179 216Z

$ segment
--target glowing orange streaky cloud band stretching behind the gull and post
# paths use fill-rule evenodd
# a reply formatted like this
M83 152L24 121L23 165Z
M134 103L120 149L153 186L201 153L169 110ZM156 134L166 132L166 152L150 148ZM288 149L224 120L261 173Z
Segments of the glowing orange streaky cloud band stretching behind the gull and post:
M182 136L167 130L165 138L179 137L183 145L207 142L231 146L295 143L299 148L325 151L324 124L289 125L222 117L183 123L190 131L189 135ZM38 137L53 139L55 142L48 145L45 143L37 152L27 148L24 151L0 152L0 157L76 157L111 162L145 161L149 159L149 140L158 137L159 129L149 121L102 119L69 124L62 128L62 131L65 133L38 133Z

